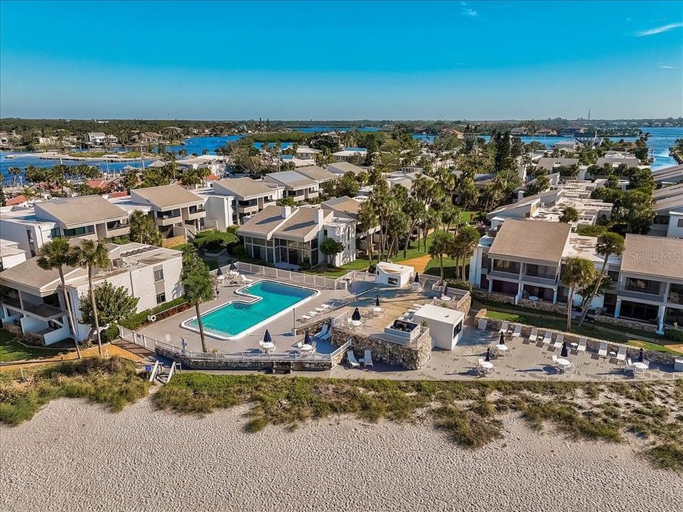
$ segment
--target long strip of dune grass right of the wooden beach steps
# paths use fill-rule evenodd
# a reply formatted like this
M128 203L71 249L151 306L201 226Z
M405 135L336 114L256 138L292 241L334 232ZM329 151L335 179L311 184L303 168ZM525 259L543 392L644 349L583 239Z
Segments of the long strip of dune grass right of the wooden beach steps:
M478 448L502 435L499 415L519 412L534 428L552 425L573 439L648 439L653 464L675 469L667 447L683 436L683 383L522 383L504 381L341 380L267 375L183 373L154 394L161 409L206 414L249 405L247 432L269 425L294 429L332 415L413 422L424 415L448 439ZM659 404L655 402L661 402Z

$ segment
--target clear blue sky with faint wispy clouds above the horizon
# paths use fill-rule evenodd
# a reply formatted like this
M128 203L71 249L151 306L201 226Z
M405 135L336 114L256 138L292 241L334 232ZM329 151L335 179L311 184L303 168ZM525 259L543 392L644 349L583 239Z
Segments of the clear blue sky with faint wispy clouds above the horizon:
M683 115L681 1L0 2L0 115Z

